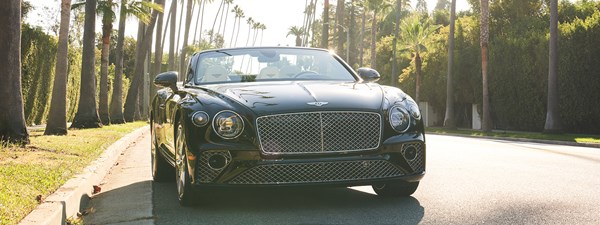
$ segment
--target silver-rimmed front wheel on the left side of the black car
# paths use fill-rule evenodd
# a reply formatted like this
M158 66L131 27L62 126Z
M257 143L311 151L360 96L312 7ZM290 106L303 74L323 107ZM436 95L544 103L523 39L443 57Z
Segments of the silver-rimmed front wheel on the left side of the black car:
M177 182L177 196L181 206L191 206L195 203L195 190L190 182L187 164L187 145L185 132L181 120L177 123L177 136L175 143L175 180Z

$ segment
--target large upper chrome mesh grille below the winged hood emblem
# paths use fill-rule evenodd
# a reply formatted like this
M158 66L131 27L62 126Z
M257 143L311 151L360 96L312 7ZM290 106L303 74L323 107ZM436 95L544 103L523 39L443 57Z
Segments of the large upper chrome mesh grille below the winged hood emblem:
M381 140L378 113L292 113L259 117L256 123L266 154L372 150Z

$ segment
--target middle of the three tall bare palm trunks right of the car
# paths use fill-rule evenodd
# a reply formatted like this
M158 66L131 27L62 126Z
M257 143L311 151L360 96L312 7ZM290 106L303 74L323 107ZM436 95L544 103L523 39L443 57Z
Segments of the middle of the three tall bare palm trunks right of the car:
M488 89L488 39L490 36L490 10L489 0L481 0L481 75L483 82L483 121L481 130L490 132L492 130L492 118L490 113L490 94Z

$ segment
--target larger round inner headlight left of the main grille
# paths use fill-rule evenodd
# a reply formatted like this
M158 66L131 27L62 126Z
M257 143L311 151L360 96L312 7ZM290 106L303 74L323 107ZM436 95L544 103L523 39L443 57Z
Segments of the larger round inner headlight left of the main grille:
M223 139L234 139L244 131L244 121L233 111L221 111L215 115L213 129Z

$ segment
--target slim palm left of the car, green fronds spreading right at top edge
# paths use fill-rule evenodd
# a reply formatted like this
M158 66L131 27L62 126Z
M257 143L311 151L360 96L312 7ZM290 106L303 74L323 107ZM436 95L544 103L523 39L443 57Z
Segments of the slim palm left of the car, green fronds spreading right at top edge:
M160 6L146 1L121 0L119 12L119 33L115 48L115 78L113 81L113 94L110 102L110 121L112 124L125 123L123 117L123 45L125 42L125 21L127 15L134 15L140 21L149 23L151 14L148 9L159 9Z

